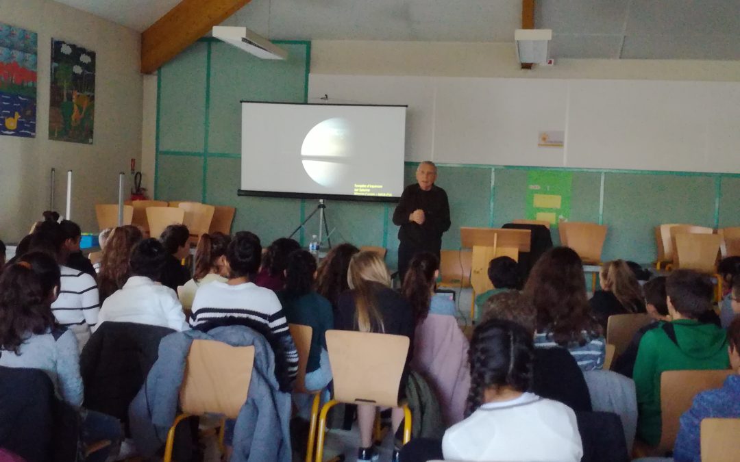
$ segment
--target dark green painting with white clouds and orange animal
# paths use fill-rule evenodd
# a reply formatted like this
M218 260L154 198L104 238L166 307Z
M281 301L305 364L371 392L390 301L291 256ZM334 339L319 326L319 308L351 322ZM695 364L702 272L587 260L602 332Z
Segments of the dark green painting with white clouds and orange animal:
M51 40L49 139L92 144L95 52Z

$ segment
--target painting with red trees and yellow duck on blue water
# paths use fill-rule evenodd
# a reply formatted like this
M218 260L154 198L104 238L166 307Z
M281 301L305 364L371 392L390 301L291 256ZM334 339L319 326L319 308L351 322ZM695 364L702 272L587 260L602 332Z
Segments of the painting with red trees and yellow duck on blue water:
M36 136L35 32L0 23L0 135Z

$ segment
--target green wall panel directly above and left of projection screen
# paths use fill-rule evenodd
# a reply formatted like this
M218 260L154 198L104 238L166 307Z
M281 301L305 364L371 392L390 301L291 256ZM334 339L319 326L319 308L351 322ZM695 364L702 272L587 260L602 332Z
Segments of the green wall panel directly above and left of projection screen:
M239 102L303 103L311 47L308 43L280 44L289 52L286 61L256 58L223 42L212 42L211 47L208 151L240 154Z

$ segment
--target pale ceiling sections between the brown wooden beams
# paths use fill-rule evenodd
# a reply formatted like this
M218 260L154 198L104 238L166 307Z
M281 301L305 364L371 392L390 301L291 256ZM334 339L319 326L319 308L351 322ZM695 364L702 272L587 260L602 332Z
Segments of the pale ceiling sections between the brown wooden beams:
M57 0L143 31L179 0ZM208 0L202 0L208 1ZM521 0L252 0L223 25L272 39L512 41ZM740 0L536 0L554 58L740 60Z

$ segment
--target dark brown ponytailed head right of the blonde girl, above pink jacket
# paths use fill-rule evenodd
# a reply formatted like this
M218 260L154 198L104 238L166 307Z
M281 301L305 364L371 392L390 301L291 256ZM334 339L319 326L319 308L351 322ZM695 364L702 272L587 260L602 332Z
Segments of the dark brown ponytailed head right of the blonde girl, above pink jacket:
M436 284L434 276L439 269L440 260L431 252L416 254L408 262L401 292L411 305L416 322L423 321L429 313L431 292Z

